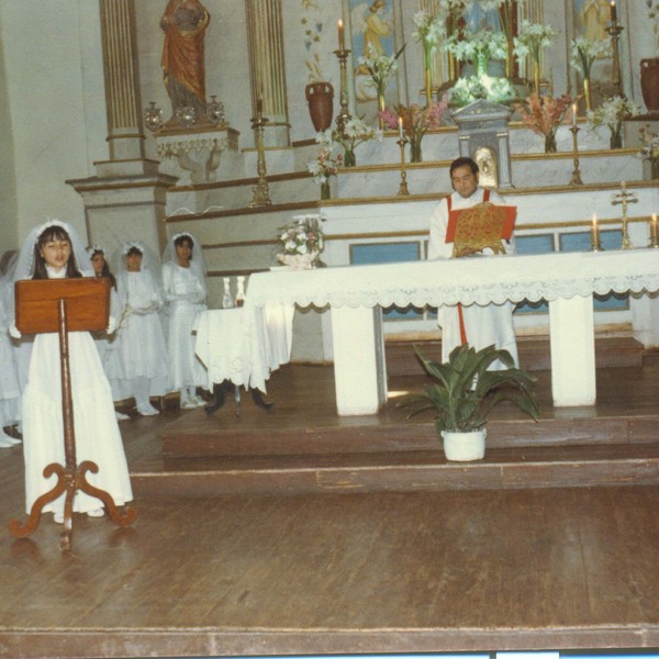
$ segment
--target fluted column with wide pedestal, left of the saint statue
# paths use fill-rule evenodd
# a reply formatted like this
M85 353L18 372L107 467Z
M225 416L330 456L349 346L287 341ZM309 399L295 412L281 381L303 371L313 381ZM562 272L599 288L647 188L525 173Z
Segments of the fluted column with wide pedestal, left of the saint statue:
M134 0L100 0L109 160L67 183L85 201L89 242L113 252L127 239L156 253L165 242L166 190L178 179L144 155Z

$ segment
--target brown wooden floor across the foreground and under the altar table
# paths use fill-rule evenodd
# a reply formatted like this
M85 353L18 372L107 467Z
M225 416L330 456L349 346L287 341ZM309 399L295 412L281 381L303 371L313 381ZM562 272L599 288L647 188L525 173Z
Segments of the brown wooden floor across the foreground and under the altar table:
M241 418L231 403L212 422L276 436L300 425L302 407L310 436L398 423L393 405L376 418L337 418L327 372L287 367L271 381L273 413L244 401ZM544 417L576 427L644 418L650 447L659 357L597 376L595 407L555 411L539 373ZM400 379L390 390L414 386ZM203 416L170 402L159 417L121 424L133 527L76 515L63 555L49 515L26 540L4 526L1 657L659 647L659 485L199 496L149 488L175 470L160 434ZM0 449L5 522L23 515L22 470L20 447Z

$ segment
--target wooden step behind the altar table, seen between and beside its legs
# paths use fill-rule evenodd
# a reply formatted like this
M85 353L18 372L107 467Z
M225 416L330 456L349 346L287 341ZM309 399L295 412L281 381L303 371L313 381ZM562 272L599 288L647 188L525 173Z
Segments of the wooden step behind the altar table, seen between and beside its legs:
M401 342L388 340L384 345L387 373L389 376L423 375L424 370L414 354L418 346L432 359L442 359L440 340ZM520 366L530 371L550 370L549 338L521 338L517 342ZM639 367L643 361L643 344L632 337L606 337L595 339L597 368Z

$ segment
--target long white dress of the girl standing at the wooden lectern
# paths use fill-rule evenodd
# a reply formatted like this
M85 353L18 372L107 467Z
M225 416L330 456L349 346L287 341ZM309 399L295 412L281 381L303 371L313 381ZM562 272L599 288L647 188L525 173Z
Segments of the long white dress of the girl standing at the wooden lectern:
M51 272L51 277L56 276ZM116 505L123 505L132 501L133 491L108 378L88 332L70 332L68 345L77 463L94 461L99 471L87 472L87 480L109 492ZM44 478L44 468L51 462L65 465L59 336L55 333L37 334L34 339L23 392L23 444L25 509L30 513L35 500L57 482L56 476ZM94 496L76 491L75 512L101 505ZM43 511L63 513L64 494Z

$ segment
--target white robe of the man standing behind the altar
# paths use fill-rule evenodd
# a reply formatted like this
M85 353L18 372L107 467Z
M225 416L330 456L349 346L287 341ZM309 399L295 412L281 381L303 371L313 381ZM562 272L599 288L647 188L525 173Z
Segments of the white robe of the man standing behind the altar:
M471 197L463 198L457 192L451 194L451 208L462 210L474 206L483 201L484 190L477 188ZM505 204L503 198L496 192L490 192L490 201L495 205ZM448 203L443 199L431 216L431 232L428 241L428 259L450 258L453 243L446 242L448 227ZM504 245L507 254L515 250L514 242ZM491 250L484 250L491 254ZM472 259L473 267L478 268L478 257ZM490 345L506 349L518 365L517 343L513 325L513 304L470 304L461 306L467 343L480 350ZM460 320L458 305L444 304L437 310L437 322L442 327L442 360L447 361L448 356L457 346L461 345ZM503 368L501 362L493 365L493 369Z

